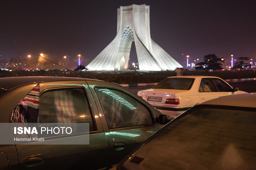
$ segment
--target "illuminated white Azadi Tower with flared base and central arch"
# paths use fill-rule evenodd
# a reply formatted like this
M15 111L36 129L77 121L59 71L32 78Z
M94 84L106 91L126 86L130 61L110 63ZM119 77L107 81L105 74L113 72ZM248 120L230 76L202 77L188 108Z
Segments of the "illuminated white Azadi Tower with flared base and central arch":
M182 66L150 37L149 6L130 5L117 9L114 40L86 66L89 70L127 70L132 41L140 70L175 70Z

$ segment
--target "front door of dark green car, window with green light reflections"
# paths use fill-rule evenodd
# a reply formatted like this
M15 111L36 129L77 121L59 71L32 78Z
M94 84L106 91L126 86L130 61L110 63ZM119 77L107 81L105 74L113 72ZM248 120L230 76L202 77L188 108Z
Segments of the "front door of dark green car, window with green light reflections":
M110 145L111 164L114 165L161 126L154 124L150 109L128 90L97 83L90 88L95 92L94 97L98 98L98 101L95 99L97 107L102 108L99 113L102 122L106 121L102 125Z

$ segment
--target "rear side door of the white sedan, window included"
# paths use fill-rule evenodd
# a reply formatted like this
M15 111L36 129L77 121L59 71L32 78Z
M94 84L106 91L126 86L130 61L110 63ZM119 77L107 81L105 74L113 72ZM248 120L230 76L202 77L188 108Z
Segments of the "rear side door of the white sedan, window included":
M212 82L211 78L201 79L198 94L201 102L219 97L219 92L214 86L214 83Z

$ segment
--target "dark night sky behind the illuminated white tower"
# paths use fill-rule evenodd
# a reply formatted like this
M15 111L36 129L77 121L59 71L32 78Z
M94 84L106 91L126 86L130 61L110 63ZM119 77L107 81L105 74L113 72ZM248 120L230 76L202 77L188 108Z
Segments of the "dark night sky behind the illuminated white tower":
M182 65L186 55L256 61L255 0L1 0L0 55L81 54L87 65L116 36L117 8L131 4L150 6L151 38Z

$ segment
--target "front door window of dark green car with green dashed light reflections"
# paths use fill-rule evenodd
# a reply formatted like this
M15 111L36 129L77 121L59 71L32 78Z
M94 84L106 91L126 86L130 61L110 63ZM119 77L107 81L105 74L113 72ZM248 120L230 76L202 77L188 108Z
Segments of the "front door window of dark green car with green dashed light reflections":
M150 111L132 96L111 88L95 88L110 129L152 125Z

